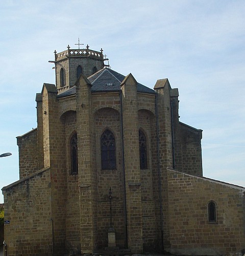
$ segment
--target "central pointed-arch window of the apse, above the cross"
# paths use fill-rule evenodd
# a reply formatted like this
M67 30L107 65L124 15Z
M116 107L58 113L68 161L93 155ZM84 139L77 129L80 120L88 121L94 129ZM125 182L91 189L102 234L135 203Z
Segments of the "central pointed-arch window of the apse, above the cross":
M116 169L115 137L110 130L101 135L101 168L103 170Z

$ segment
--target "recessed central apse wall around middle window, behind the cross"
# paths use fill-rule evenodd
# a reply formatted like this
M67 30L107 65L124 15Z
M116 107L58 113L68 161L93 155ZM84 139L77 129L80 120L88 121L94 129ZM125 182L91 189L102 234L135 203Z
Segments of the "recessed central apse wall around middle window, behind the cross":
M119 103L119 102L118 102ZM101 135L109 129L115 137L116 169L102 170L101 168ZM95 113L96 133L96 172L98 180L97 198L97 232L98 248L105 248L107 231L110 227L109 189L112 190L112 226L116 231L116 245L124 248L126 244L124 217L124 177L122 174L122 145L120 131L120 115L111 108L103 108Z

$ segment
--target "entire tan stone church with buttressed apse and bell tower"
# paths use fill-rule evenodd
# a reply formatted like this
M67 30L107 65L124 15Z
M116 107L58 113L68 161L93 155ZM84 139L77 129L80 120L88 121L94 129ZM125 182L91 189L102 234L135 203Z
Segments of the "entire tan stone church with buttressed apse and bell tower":
M37 128L17 137L19 180L2 188L8 255L241 255L245 188L203 177L202 130L179 121L178 89L107 61L55 51Z

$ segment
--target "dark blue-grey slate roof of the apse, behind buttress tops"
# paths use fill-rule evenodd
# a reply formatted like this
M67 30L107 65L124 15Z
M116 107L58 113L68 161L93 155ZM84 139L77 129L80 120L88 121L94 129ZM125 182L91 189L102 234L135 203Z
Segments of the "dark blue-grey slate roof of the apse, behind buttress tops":
M121 75L112 69L104 68L89 76L88 80L92 84L91 92L116 92L120 91L120 84L124 78L124 75ZM141 83L137 84L137 92L155 94L153 89L143 86ZM76 94L75 86L59 94L57 97L61 98L74 94Z

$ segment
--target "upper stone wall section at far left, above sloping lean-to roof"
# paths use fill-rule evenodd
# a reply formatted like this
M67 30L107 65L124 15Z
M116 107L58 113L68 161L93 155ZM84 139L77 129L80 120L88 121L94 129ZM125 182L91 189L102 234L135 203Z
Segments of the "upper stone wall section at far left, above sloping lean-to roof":
M19 178L23 179L38 170L37 129L17 137L19 146Z

